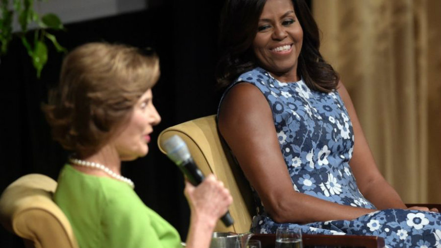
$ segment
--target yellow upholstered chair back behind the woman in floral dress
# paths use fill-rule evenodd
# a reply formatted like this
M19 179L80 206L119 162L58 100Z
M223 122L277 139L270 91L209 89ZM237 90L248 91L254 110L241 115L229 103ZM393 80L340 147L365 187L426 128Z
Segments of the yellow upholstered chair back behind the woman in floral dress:
M215 174L219 180L223 181L233 197L233 204L229 211L234 224L225 227L218 222L215 231L248 232L255 214L251 189L241 168L219 137L216 115L184 122L162 131L158 138L158 145L164 154L162 143L172 135L178 135L185 141L200 170L205 175Z

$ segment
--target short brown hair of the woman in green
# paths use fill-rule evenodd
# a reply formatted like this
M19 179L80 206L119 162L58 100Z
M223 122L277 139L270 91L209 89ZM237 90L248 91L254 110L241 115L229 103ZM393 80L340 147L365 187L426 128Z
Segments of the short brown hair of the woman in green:
M97 152L159 78L156 55L127 45L89 43L63 60L58 89L42 106L53 138L81 156Z

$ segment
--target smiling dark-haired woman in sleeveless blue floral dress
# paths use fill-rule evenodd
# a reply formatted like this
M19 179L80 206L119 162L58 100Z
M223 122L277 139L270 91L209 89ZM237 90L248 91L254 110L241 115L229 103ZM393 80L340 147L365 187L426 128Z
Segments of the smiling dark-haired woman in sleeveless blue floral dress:
M220 45L219 129L256 193L251 231L441 248L438 210L407 208L377 169L303 0L228 0Z

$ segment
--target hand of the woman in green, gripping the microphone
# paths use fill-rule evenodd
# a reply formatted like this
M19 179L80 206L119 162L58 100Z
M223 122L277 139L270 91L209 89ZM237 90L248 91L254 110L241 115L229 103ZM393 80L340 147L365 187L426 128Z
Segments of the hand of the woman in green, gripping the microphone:
M229 190L213 174L196 187L186 181L184 194L189 202L192 218L205 221L213 228L233 202Z

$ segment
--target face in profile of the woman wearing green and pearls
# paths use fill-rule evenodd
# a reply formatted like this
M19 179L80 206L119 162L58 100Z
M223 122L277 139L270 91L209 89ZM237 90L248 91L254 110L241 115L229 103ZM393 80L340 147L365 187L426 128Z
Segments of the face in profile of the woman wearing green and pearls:
M148 153L147 143L153 126L161 121L152 103L151 89L147 90L133 107L128 123L112 139L112 144L121 160L134 160Z

